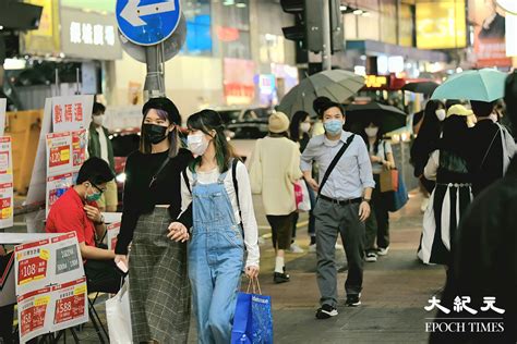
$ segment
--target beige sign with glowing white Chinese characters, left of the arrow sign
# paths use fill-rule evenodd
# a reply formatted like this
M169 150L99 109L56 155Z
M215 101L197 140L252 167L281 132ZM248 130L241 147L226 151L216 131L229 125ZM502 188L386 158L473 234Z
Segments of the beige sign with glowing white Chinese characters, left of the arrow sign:
M65 56L96 60L122 58L115 16L62 8L61 19L61 46Z

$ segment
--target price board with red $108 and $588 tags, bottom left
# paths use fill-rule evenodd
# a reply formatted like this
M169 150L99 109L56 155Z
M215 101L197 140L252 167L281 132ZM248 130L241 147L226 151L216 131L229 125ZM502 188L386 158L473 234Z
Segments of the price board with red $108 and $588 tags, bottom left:
M74 232L14 249L20 341L88 321L87 290Z

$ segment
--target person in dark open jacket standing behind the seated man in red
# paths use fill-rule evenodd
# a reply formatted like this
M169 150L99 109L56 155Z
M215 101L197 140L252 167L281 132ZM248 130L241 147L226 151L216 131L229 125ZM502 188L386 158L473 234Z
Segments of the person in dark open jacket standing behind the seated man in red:
M89 125L89 140L88 140L88 155L89 157L96 157L108 162L112 172L115 173L115 158L113 147L109 139L108 128L103 126L105 120L106 108L99 102L94 102L92 113L92 124ZM97 206L100 211L117 211L118 195L117 195L117 183L110 181L107 184L106 193L97 201Z

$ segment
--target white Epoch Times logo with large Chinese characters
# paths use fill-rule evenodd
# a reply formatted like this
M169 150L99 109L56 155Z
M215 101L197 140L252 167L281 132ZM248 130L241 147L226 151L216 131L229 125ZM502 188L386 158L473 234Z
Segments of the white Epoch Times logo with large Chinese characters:
M494 296L484 296L483 306L478 310L469 306L471 303L470 296L456 296L450 310L443 306L436 296L433 296L428 300L429 305L423 308L426 311L437 309L450 316L443 319L425 318L426 320L434 320L425 322L425 332L504 332L503 318L500 316L504 315L505 309L497 307L495 302ZM457 318L453 317L455 312L458 314ZM464 315L467 315L467 317L464 317Z

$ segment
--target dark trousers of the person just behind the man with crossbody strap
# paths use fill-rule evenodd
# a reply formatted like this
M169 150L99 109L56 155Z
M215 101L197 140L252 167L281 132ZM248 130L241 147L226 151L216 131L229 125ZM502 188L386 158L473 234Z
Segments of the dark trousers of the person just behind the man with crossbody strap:
M378 174L374 174L375 188L372 193L372 213L366 220L366 251L375 250L375 238L378 248L389 246L389 212L386 199L380 192L381 182Z

